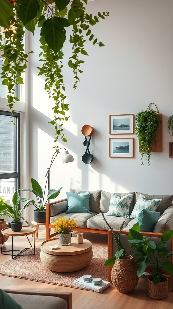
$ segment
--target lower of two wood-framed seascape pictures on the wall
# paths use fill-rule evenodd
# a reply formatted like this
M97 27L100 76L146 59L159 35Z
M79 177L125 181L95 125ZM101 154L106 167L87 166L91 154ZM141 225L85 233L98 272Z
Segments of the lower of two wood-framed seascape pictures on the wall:
M109 158L133 158L134 138L109 138Z

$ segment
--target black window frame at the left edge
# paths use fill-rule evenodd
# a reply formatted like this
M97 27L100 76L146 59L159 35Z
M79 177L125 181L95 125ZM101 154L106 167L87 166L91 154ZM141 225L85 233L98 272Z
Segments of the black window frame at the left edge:
M0 179L10 179L14 178L14 187L15 190L20 189L20 184L21 184L21 167L20 167L20 113L14 112L12 115L11 112L8 111L2 111L0 110L0 115L4 116L10 116L10 117L16 117L16 124L15 124L15 129L16 129L16 140L15 140L15 170L16 172L6 172L6 173L1 173L0 174ZM20 191L19 191L20 194Z

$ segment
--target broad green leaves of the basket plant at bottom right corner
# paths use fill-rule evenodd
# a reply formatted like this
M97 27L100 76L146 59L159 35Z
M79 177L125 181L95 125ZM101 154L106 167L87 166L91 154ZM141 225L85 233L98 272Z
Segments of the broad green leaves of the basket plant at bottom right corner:
M139 225L137 222L136 225ZM139 265L137 271L138 277L141 277L146 267L148 266L153 275L153 283L156 285L162 279L164 269L167 273L173 275L173 265L168 258L173 255L173 252L167 250L167 241L173 237L173 230L167 230L162 234L160 242L154 243L151 237L144 238L141 233L131 229L128 234L130 245L136 248L136 254L139 260L135 264Z

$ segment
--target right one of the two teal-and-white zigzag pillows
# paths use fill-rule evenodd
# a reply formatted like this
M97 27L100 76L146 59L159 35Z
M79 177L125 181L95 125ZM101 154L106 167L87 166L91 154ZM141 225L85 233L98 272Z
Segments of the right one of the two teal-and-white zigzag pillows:
M143 194L140 194L136 201L134 209L130 215L130 218L131 219L137 218L139 213L143 209L149 210L149 211L155 211L161 201L162 201L162 198L155 199L155 200L147 200L147 198Z

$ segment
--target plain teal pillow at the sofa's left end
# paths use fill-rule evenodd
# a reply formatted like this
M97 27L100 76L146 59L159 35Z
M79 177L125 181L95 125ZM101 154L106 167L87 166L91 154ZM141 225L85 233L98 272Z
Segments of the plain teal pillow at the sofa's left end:
M92 214L90 211L90 192L85 193L73 193L66 192L68 208L66 214Z

